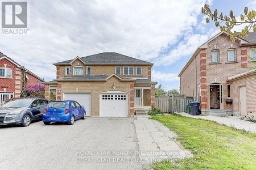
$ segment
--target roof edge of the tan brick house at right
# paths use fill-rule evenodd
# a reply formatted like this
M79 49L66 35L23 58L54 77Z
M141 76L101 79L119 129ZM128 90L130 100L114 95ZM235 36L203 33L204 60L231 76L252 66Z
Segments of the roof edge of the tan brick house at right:
M191 58L189 58L188 62L185 64L185 66L183 67L183 69L180 71L180 74L178 76L181 76L181 74L185 71L185 69L187 69L187 67L189 66L189 64L193 61L193 59L197 56L197 54L200 53L201 50L203 49L207 49L208 48L208 43L214 39L216 39L216 37L222 35L223 33L225 33L226 35L229 35L228 32L226 31L221 31L219 33L217 33L217 35L213 36L212 38L210 38L208 41L204 42L204 44L202 44L201 46L199 46L196 51L192 54ZM250 32L249 35L247 37L245 37L245 39L242 39L241 37L239 37L240 32L237 33L236 35L236 39L240 41L240 45L251 45L253 44L253 40L256 40L256 33L255 32ZM256 41L255 41L256 42ZM254 42L254 43L255 43Z

